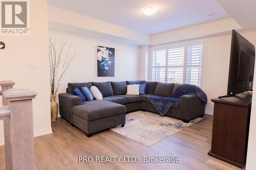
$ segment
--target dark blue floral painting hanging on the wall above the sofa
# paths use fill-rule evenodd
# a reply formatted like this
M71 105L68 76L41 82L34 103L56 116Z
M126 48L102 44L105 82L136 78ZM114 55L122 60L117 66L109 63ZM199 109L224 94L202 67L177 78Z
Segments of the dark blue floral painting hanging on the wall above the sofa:
M98 77L115 76L115 48L97 46Z

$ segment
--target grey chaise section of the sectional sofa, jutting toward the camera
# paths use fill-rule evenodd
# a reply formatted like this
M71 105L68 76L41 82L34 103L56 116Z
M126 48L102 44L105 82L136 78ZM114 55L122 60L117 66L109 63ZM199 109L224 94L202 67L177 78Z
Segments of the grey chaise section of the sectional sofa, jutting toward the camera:
M126 108L123 105L94 100L73 108L73 124L86 133L93 133L125 124Z

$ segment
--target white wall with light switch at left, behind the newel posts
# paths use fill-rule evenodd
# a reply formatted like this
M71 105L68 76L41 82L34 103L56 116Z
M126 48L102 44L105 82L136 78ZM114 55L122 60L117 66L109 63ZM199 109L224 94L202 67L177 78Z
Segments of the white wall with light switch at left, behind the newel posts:
M6 48L0 50L0 80L12 80L16 82L15 88L30 88L38 93L33 99L34 134L51 133L46 0L30 1L30 35L5 35L0 40L6 44ZM39 68L27 68L27 60L38 61ZM4 144L3 138L1 121L0 144Z

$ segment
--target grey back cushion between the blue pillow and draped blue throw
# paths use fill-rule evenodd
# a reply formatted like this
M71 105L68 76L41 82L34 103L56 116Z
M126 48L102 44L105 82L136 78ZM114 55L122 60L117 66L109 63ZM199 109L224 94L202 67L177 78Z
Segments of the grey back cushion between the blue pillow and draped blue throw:
M160 95L160 96L166 96L166 97L172 96L174 85L175 85L174 83L158 82L154 94Z

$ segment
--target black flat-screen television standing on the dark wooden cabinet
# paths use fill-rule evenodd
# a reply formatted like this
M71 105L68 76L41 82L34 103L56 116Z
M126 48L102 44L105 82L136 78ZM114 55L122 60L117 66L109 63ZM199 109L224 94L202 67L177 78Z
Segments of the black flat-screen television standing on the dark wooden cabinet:
M227 95L219 96L219 98L233 96L248 101L237 94L252 90L254 62L254 45L237 31L232 30Z

